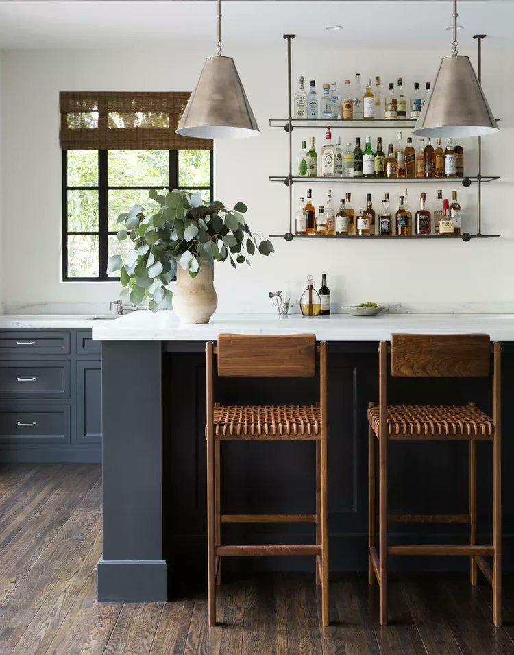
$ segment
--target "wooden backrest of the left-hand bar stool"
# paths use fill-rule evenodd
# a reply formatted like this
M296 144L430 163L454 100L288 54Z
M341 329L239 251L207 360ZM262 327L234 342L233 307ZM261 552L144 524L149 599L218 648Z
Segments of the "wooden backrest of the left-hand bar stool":
M313 377L316 335L218 335L218 375Z

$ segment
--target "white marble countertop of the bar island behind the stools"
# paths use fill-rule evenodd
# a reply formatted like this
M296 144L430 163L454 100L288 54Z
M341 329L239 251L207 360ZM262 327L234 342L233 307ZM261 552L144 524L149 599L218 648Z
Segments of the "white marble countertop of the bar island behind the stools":
M173 311L136 311L116 321L93 325L93 339L100 341L215 341L220 333L315 333L326 341L380 341L392 333L475 334L498 341L514 341L514 314L379 314L354 317L302 318L274 314L215 314L206 325L180 323Z

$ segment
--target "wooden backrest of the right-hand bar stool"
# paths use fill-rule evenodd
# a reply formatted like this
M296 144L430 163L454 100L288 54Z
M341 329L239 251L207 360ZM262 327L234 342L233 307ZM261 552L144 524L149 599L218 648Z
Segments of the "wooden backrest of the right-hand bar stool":
M396 377L488 377L491 339L472 335L391 335L391 375Z

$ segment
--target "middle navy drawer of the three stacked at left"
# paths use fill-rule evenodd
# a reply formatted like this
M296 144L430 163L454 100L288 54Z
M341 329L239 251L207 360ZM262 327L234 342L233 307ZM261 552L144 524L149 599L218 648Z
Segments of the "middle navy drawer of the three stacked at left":
M69 361L0 362L1 398L69 398Z

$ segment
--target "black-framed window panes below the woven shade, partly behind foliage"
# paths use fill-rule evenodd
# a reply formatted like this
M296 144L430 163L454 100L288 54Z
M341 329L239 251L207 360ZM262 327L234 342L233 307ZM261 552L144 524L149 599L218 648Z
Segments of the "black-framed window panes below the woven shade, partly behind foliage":
M212 150L63 150L63 280L117 280L108 257L131 246L116 238L117 217L163 187L212 200Z

